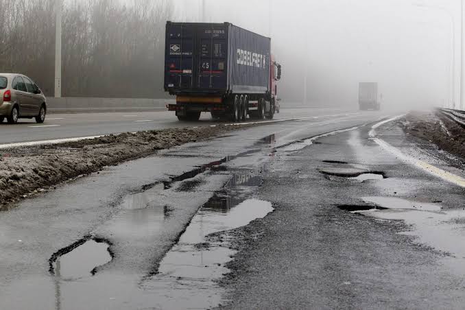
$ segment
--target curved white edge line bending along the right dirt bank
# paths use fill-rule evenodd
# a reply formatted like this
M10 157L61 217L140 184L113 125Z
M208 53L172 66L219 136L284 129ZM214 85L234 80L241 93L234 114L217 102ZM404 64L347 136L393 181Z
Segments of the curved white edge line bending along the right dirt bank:
M381 121L375 125L372 126L372 130L370 130L369 136L372 141L376 142L379 146L383 147L384 150L387 150L388 152L394 154L397 156L399 159L403 160L405 163L409 163L410 165L414 165L423 171L427 171L429 174L432 174L433 176L436 176L438 178L441 178L442 180L446 180L447 182L451 182L453 184L456 184L460 187L465 187L465 179L457 176L455 174L451 174L449 171L442 170L436 166L430 165L429 163L425 163L422 160L419 160L417 158L414 158L412 156L409 156L407 154L403 154L401 150L398 150L397 147L394 147L384 141L383 139L377 138L376 137L376 128L379 126L383 125L384 123L388 123L389 121L394 121L395 119L398 119L402 117L403 115L399 115L397 117L393 117L392 119L388 119L385 121Z

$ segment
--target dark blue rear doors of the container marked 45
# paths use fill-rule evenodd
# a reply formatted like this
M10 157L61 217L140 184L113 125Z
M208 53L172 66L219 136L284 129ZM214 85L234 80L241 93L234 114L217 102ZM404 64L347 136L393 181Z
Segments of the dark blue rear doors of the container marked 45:
M217 91L226 88L226 24L167 23L165 88Z

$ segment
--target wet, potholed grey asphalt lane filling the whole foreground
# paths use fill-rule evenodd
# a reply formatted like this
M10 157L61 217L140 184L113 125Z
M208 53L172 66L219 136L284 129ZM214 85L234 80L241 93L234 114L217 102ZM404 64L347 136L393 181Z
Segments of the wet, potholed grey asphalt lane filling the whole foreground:
M215 290L221 298L200 308L218 303L238 309L462 305L464 283L440 264L444 254L398 235L405 230L401 222L337 207L394 192L457 207L463 204L462 189L383 152L368 141L369 126L283 150L386 116L363 112L239 130L107 167L11 206L0 213L0 308L196 307L189 298L169 302L180 298L173 281L189 276L165 279L160 286L160 263L170 265L163 258L185 237L191 220L197 223L199 208L213 206L226 215L250 199L270 202L274 212L235 230L237 238L228 241L234 260L228 263L227 256L219 263L228 263L230 273L213 281L222 287L206 286L205 296L193 300L211 298ZM361 182L322 174L318 169L348 165L323 160L382 171L387 178ZM224 193L231 184L235 189ZM215 195L223 198L212 204ZM250 235L259 237L244 237ZM95 254L90 262L86 252ZM76 267L84 261L88 267Z

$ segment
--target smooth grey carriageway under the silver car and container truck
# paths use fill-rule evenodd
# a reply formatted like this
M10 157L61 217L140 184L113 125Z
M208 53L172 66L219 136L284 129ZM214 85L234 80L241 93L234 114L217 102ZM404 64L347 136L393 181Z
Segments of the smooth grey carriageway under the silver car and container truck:
M315 115L337 115L358 112L348 109L324 108L284 108L276 114L275 119L289 117L311 117ZM370 112L368 112L370 113ZM178 121L174 112L102 112L80 114L47 115L45 123L20 119L19 123L10 125L4 121L0 124L0 145L27 141L44 141L53 139L97 136L120 132L136 132L163 128L180 128L193 126L210 126L213 122L210 113L202 113L201 121Z

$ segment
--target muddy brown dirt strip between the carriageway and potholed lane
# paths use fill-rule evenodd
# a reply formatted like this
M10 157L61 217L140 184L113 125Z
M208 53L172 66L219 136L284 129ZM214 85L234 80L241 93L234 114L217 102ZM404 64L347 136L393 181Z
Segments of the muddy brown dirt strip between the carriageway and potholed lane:
M151 130L0 150L0 210L12 202L103 167L156 154L158 150L176 145L210 139L237 128L220 125Z

